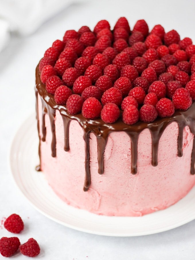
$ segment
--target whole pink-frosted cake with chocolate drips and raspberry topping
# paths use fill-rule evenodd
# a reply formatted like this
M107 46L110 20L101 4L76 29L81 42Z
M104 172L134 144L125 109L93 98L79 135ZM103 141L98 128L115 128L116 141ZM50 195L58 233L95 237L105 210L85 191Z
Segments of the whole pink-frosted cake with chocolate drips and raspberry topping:
M142 216L195 184L195 45L120 17L67 30L36 68L41 170L67 204Z

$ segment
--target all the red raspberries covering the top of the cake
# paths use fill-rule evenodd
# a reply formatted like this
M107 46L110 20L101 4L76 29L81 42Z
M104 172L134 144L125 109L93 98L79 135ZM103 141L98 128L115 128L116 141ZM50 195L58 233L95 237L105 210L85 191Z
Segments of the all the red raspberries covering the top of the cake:
M187 110L195 100L195 45L175 30L125 17L114 29L99 21L56 40L39 63L40 78L69 114L114 123L150 123Z

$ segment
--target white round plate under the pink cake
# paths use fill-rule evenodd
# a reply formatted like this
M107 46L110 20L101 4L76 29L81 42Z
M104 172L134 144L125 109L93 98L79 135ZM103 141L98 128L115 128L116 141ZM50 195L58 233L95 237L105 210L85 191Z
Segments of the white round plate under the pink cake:
M195 187L175 205L142 217L99 216L66 205L47 184L38 164L35 115L18 130L10 152L13 178L24 196L42 214L76 230L106 236L141 236L176 228L195 219Z

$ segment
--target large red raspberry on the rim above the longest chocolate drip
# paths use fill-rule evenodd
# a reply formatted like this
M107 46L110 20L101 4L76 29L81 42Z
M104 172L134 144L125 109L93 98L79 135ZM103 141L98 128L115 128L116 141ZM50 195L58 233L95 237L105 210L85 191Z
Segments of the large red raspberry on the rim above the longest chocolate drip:
M95 119L100 117L102 104L95 97L89 97L83 102L82 115L85 118Z

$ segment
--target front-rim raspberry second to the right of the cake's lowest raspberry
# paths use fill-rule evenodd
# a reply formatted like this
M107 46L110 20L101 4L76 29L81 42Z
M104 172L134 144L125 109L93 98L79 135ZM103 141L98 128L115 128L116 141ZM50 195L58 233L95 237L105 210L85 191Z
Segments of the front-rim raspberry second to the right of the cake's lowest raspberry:
M172 116L175 112L173 102L164 97L161 98L156 104L156 110L159 117L169 117Z

